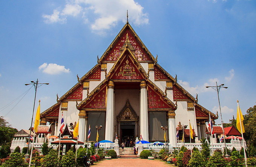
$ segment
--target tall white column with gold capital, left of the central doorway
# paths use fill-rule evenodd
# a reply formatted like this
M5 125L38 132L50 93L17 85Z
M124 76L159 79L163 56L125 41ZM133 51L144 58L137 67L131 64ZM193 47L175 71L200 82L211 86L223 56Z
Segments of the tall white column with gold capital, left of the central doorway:
M108 81L105 140L113 141L114 133L114 82Z

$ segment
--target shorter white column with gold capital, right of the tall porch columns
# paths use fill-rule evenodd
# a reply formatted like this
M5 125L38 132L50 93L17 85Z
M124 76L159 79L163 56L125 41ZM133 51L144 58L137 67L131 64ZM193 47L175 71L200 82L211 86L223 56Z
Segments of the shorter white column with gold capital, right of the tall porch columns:
M175 115L174 110L168 111L169 143L172 147L176 147L177 144Z

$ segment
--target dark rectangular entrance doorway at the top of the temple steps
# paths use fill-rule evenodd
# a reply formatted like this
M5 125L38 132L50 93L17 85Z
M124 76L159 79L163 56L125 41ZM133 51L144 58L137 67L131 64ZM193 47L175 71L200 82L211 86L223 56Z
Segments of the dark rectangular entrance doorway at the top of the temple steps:
M120 123L120 139L125 143L125 147L133 147L135 141L135 122Z

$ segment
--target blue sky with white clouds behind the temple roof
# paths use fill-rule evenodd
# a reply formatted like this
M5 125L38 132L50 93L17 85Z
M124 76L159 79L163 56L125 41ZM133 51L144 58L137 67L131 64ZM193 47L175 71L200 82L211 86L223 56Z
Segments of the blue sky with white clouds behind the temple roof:
M97 62L126 22L158 63L199 103L216 113L216 92L224 122L255 105L256 2L254 0L66 0L0 2L0 115L14 128L28 129L38 88L41 112L76 84ZM39 68L40 67L40 68ZM21 100L20 100L21 99ZM20 102L18 102L20 101ZM3 108L4 107L4 108ZM217 120L217 123L220 121Z

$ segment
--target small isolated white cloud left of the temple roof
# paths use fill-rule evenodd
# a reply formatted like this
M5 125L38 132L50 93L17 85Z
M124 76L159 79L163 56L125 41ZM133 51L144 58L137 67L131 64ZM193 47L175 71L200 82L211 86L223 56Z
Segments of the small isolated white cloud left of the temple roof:
M65 66L57 65L55 63L43 63L38 67L39 70L43 70L43 73L55 75L61 73L69 73L70 69L66 69Z

